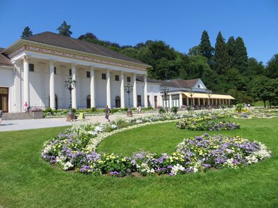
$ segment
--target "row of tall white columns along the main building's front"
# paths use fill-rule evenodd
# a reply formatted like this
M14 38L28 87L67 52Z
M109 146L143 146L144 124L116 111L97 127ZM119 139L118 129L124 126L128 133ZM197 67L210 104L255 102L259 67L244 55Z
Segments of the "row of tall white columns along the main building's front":
M30 95L29 95L29 64L28 57L24 55L24 102L30 105ZM50 107L55 109L55 85L54 85L54 60L49 60L49 98ZM111 69L106 69L106 105L111 107ZM76 80L76 64L72 63L72 79ZM121 72L120 75L120 99L121 107L124 105L124 73ZM90 97L91 97L91 107L95 107L95 67L90 67ZM76 104L76 88L72 89L72 107L77 108ZM144 104L147 107L147 75L144 76ZM136 84L136 73L133 73L133 107L137 107L137 84Z

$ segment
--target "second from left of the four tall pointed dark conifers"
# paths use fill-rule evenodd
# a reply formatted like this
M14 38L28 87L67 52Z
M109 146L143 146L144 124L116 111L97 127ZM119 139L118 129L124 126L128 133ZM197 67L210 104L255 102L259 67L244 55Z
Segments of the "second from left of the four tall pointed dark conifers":
M215 43L215 70L219 74L224 74L227 69L229 69L227 45L221 32L219 32Z

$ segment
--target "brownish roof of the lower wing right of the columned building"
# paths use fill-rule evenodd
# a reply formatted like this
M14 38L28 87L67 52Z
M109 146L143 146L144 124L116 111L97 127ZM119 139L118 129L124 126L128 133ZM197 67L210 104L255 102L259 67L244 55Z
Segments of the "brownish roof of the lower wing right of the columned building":
M138 76L137 80L143 82L144 76ZM182 80L182 79L174 79L174 80L153 80L147 78L147 83L158 83L161 84L163 87L177 87L177 88L193 88L198 79L194 80Z

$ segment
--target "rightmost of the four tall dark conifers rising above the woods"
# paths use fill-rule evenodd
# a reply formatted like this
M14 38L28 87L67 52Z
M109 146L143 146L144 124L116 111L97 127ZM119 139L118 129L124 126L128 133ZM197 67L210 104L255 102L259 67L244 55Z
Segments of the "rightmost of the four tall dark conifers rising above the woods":
M234 67L244 73L247 71L247 49L241 37L237 37L235 41L235 51L234 51Z

